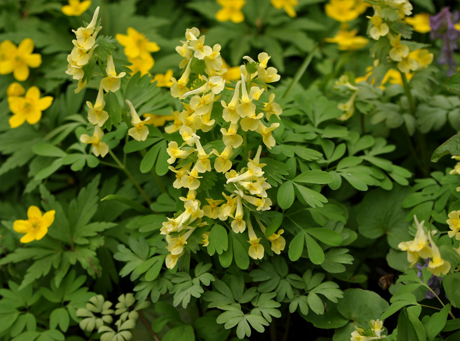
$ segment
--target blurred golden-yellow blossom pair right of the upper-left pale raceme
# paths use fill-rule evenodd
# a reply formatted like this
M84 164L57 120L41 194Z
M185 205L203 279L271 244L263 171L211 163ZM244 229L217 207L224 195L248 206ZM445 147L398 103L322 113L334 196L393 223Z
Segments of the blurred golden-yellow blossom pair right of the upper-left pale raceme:
M159 51L160 47L156 42L149 41L144 34L137 32L132 27L128 27L126 33L117 33L115 38L125 48L123 51L128 61L132 63L129 66L132 71L131 74L136 72L140 72L141 76L148 74L155 64L150 53Z

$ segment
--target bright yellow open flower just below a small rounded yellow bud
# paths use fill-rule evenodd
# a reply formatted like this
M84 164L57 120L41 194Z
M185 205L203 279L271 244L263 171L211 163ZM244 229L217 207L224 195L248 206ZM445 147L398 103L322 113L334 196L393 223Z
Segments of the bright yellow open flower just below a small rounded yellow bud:
M53 97L45 96L40 98L40 90L37 87L30 87L26 96L9 96L8 104L13 116L8 122L10 127L16 128L25 121L29 124L37 123L41 118L41 112L48 109L53 102Z

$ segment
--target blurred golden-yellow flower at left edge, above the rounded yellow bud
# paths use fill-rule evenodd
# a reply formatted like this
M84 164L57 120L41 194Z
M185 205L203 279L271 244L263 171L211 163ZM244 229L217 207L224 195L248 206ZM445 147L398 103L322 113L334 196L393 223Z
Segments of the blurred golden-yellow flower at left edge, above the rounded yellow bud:
M13 73L17 80L26 80L29 77L29 68L38 68L41 64L41 55L32 53L34 41L31 38L25 38L17 47L10 40L4 40L0 44L0 50L0 54L6 56L6 59L0 59L1 75Z

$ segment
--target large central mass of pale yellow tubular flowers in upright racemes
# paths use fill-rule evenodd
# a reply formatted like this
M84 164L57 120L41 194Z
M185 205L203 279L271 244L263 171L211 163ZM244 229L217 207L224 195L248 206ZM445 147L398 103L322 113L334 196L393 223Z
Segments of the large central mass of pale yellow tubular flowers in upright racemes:
M271 185L263 176L262 169L265 164L260 161L262 146L259 145L252 159L247 159L247 155L243 155L245 167L239 172L232 169L232 160L239 155L241 147L244 154L246 134L250 132L258 134L268 149L275 145L272 131L279 123L268 125L264 119L268 121L272 115L279 118L282 110L280 105L273 101L274 94L268 96L268 102L261 102L261 95L266 90L264 83L278 81L280 76L277 69L267 67L270 57L263 52L259 54L258 62L244 57L254 69L248 72L246 66L242 65L239 69L240 79L234 86L229 86L222 78L226 69L223 68L220 56L220 45L206 46L204 38L203 35L200 37L197 28L187 29L186 40L181 41L182 46L176 48L184 58L180 62L180 67L185 70L179 79L171 79L171 95L183 100L185 109L181 112L176 111L174 122L165 128L169 134L179 132L183 140L180 145L176 141L169 143L168 163L171 164L169 169L176 174L173 186L187 188L188 194L180 198L184 202L184 210L178 212L174 218L168 218L160 229L168 242L168 268L174 268L178 259L185 253L184 245L192 233L197 228L208 225L203 217L228 221L229 228L235 233L242 233L247 228L250 257L261 259L264 255L264 248L260 244L261 237L257 236L252 227L250 214L245 215L245 212L248 212L247 208L249 211L264 211L270 209L271 205L266 192ZM196 61L202 63L205 75L191 75L192 62ZM258 84L262 84L262 89L256 86L256 79ZM229 102L219 98L226 86L234 89ZM256 110L256 102L259 108L264 104L262 110ZM216 113L219 113L219 116L221 113L220 118L224 121L220 128L224 145L222 150L216 150L215 144L205 143L203 135L200 134L213 130L219 124L217 122L222 121L214 116ZM218 128L216 131L219 131ZM176 162L177 165L173 166ZM205 191L200 189L200 179L206 172L221 173L226 184L221 198L205 198L206 204L202 205L197 196L206 195ZM256 221L264 233L265 227L260 220ZM277 253L285 247L281 233L283 230L266 237L271 241L272 250ZM208 245L208 236L209 232L204 232L200 236L204 246Z

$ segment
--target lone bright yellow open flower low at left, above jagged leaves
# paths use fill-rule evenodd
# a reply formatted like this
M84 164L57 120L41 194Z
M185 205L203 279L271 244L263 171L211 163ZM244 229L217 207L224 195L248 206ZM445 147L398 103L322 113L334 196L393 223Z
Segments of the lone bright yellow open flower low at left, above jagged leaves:
M48 228L54 222L54 214L56 211L45 212L41 214L37 206L30 206L27 210L27 220L16 220L13 223L13 229L18 233L26 233L20 239L21 243L30 243L34 240L42 239L47 233Z

